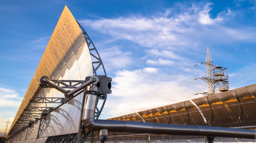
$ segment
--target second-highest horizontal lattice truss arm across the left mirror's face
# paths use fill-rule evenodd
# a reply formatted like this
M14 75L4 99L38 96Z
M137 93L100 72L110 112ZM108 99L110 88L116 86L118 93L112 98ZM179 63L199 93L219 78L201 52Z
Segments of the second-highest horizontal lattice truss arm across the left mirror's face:
M56 98L56 97L36 97L32 103L67 103L66 98Z

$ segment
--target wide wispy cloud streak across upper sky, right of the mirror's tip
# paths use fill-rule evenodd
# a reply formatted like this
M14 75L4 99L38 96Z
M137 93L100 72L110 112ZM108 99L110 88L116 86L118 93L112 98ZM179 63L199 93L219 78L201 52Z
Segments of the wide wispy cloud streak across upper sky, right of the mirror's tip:
M80 20L85 27L107 34L116 40L125 39L147 48L196 47L198 43L221 40L255 42L254 27L230 25L235 11L226 8L211 18L212 3L199 3L166 10L151 17L133 15L112 19ZM181 11L176 13L176 10ZM227 32L226 29L230 29ZM231 31L236 31L232 33ZM249 35L249 36L248 36ZM241 38L245 37L245 38Z

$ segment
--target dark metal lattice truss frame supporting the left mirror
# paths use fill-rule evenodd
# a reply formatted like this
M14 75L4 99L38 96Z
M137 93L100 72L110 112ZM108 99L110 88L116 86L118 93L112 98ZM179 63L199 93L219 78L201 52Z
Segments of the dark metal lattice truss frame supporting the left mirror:
M89 51L90 51L90 55L92 58L92 66L93 66L93 75L97 75L97 76L107 76L107 73L105 71L105 67L103 65L103 62L99 56L99 53L94 45L94 43L92 42L91 38L88 36L88 34L86 33L86 31L83 29L83 27L77 22L77 24L79 25L84 38L86 40L86 43L88 45ZM53 83L55 83L56 85L62 87L62 88L67 88L67 89L75 89L76 87L78 87L79 85L85 83L85 80L50 80ZM42 86L42 91L43 88L52 88L49 85L43 85ZM77 94L74 95L77 96L80 93L84 92L84 90L78 92ZM99 115L101 114L101 111L105 105L105 101L107 99L107 94L99 96L97 98L97 105L96 105L96 111L95 111L95 119L99 118ZM99 102L100 100L102 100L101 102ZM45 97L36 97L32 103L58 103L60 104L58 107L60 107L61 105L67 103L66 98L45 98ZM98 105L98 103L100 103L100 105ZM57 107L57 108L58 108ZM56 108L55 108L56 109ZM53 110L55 110L54 107L33 107L33 106L29 106L26 111L24 112L24 114L21 115L21 118L15 123L15 125L12 128L12 132L10 133L11 136L14 136L15 134L21 132L22 130L26 129L27 127L31 127L31 125L33 123L35 123L36 121L40 120L39 123L39 129L37 132L37 138L40 136L44 125L46 124L46 118L45 116L47 114L49 114L50 112L52 112ZM36 113L35 113L36 112ZM30 128L28 128L30 129ZM80 133L82 136L80 138L81 143L84 142L88 136L91 134L91 131L86 130L86 127L84 127L84 125L82 125L82 132ZM26 135L27 136L27 135ZM65 136L65 138L64 138ZM68 143L69 141L71 141L72 143L77 142L77 136L78 133L74 133L74 134L67 134L67 135L61 135L58 136L56 138L54 138L54 140L52 141L56 141L56 139L59 140L63 140L66 141L66 143ZM51 138L50 138L51 139ZM52 142L49 139L47 139L47 142Z

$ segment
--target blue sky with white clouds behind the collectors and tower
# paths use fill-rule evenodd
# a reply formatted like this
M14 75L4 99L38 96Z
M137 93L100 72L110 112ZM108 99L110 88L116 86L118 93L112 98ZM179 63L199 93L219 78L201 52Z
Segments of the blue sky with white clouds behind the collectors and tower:
M256 1L0 1L0 132L13 119L64 6L97 47L112 94L102 118L207 91L207 47L230 89L256 83ZM185 69L188 69L184 71ZM182 72L184 71L184 72ZM182 72L181 74L179 74Z

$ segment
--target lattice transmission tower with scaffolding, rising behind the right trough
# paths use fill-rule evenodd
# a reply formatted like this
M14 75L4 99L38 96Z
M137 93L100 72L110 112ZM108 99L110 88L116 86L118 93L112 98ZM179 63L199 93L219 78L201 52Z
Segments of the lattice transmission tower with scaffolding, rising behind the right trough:
M207 82L208 92L203 92L203 95L211 95L219 92L229 90L228 83L228 69L220 66L216 66L213 63L211 52L207 47L206 62L202 62L206 65L207 77L201 77L200 79Z

